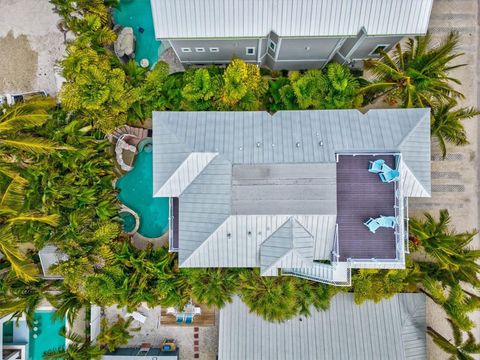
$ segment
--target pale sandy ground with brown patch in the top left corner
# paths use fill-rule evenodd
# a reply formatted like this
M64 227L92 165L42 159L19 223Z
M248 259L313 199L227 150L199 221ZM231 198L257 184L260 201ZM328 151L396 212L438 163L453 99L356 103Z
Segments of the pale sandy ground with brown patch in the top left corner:
M0 0L0 94L55 94L53 66L65 53L48 0Z

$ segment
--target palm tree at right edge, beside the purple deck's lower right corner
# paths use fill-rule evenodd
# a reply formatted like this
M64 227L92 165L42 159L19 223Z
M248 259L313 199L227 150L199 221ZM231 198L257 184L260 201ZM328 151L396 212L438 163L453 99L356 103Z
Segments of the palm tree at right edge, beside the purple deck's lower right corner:
M441 267L452 272L478 273L480 250L469 249L477 231L455 233L448 229L448 210L440 210L439 220L425 213L425 220L410 219L410 234Z

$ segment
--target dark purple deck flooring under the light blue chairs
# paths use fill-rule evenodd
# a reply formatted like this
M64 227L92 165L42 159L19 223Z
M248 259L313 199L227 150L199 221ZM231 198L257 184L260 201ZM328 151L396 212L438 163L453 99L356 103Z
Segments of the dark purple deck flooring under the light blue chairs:
M395 215L394 184L385 184L367 171L369 161L384 159L395 167L392 155L340 155L337 163L337 224L340 261L394 259L393 229L371 233L363 223L370 217Z

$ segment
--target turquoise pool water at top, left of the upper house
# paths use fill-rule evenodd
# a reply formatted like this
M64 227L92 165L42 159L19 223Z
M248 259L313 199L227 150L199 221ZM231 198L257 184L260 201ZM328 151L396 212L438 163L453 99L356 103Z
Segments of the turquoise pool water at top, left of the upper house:
M162 43L155 39L150 0L120 0L120 7L114 10L113 18L116 24L133 28L137 63L148 59L150 66L155 65ZM140 28L143 28L143 33Z

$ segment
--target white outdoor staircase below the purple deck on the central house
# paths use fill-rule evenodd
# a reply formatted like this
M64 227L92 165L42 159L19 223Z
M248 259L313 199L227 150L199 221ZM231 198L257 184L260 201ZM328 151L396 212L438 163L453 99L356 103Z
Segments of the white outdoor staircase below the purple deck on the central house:
M315 263L314 266L309 268L282 269L282 274L298 276L329 285L351 285L351 267L349 262L334 262L333 264Z

